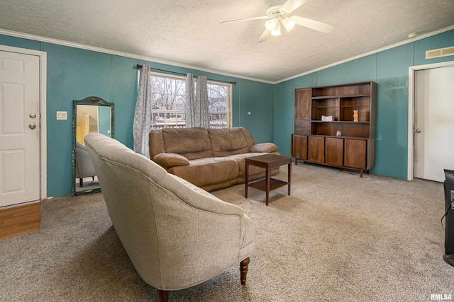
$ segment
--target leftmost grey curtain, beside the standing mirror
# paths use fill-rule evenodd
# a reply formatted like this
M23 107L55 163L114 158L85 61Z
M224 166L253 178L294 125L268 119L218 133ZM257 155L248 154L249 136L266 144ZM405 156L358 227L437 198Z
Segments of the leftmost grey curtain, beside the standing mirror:
M150 158L148 146L148 133L151 128L151 78L150 65L142 65L140 69L139 88L135 101L135 114L133 122L134 151Z

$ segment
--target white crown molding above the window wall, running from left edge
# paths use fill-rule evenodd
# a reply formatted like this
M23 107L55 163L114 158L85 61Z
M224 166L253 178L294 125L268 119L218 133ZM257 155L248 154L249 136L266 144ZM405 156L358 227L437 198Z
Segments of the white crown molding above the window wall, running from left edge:
M131 54L128 52L119 52L117 50L108 50L106 48L101 48L101 47L96 47L96 46L90 46L90 45L83 45L79 43L74 43L74 42L68 42L64 40L58 40L58 39L53 39L50 37L42 37L40 35L31 35L28 33L18 33L13 30L4 30L0 28L0 35L9 35L11 37L21 37L23 39L28 39L28 40L36 40L40 42L46 42L46 43L51 43L51 44L56 44L56 45L63 45L63 46L68 46L68 47L74 47L74 48L79 48L82 50L91 50L93 52L102 52L105 54L114 54L116 56L120 57L128 57L131 59L140 59L143 61L148 61L148 62L155 62L155 63L160 63L160 64L168 64L172 66L177 66L177 67L182 67L182 68L187 68L187 69L194 69L198 71L204 71L204 72L209 72L212 74L218 74L220 76L231 76L233 78L237 79L245 79L245 80L250 80L250 81L257 81L257 82L262 82L262 83L269 83L272 84L272 81L265 81L262 79L255 79L255 78L250 78L248 76L240 76L238 74L228 74L226 72L222 71L217 71L214 69L203 69L198 66L192 66L189 64L184 64L182 62L177 62L177 61L172 61L171 59L165 59L165 58L158 58L158 57L148 57L148 56L143 56L140 54Z

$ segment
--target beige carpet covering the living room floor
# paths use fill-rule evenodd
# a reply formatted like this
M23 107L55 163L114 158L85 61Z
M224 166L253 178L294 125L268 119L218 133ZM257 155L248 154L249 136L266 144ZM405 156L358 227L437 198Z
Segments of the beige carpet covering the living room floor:
M292 165L270 194L237 185L214 192L257 223L248 281L238 266L170 301L431 301L454 296L443 261L443 184L360 178ZM287 169L278 178L285 180ZM42 229L0 240L0 301L157 301L116 236L102 194L43 202ZM209 231L209 230L207 230Z

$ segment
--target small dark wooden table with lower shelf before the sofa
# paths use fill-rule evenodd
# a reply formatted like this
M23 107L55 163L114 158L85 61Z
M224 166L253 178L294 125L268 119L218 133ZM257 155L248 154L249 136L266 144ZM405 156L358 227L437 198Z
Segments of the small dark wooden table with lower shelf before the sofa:
M292 178L292 158L288 156L281 156L276 154L265 154L245 158L245 197L248 198L248 187L253 187L258 190L265 191L267 194L267 205L270 197L270 191L275 190L284 185L289 186L290 195L290 180ZM256 167L265 168L265 179L249 182L249 166L255 165ZM270 178L270 170L280 167L281 165L288 165L287 182Z

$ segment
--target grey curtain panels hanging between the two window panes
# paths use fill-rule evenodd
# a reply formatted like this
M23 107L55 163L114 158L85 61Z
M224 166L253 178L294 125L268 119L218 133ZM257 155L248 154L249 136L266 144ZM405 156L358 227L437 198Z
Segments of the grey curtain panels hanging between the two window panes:
M186 76L186 127L209 127L209 103L206 76L197 76L194 93L194 76Z

